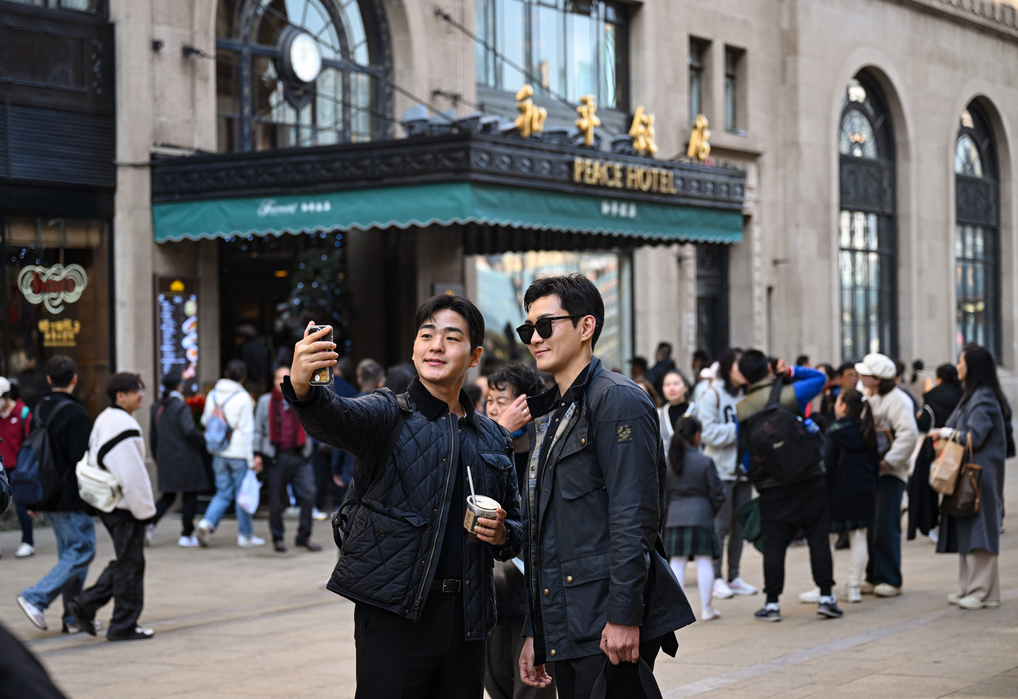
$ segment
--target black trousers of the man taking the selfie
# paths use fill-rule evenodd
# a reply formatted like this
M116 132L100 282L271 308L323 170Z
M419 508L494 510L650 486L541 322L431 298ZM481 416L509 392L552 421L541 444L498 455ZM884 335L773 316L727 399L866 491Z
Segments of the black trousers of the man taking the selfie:
M432 592L416 624L358 602L356 699L482 699L484 640L463 638L463 595Z

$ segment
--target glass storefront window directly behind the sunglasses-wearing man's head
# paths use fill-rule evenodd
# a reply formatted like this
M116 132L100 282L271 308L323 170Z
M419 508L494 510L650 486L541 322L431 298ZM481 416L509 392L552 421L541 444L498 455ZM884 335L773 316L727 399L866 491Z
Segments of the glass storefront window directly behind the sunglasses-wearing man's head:
M506 362L533 361L515 328L526 318L523 294L544 275L585 274L605 301L605 326L595 347L608 369L621 369L632 356L632 283L628 256L613 252L536 251L476 258L477 307L485 316L485 355Z

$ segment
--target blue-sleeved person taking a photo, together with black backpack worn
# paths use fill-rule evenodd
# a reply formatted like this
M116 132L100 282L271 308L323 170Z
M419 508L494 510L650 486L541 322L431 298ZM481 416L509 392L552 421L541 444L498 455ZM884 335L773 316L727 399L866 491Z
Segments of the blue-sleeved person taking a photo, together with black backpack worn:
M816 613L840 619L844 612L832 592L824 439L819 428L802 417L806 405L827 385L827 375L779 361L775 376L767 355L758 350L739 358L739 372L749 382L746 397L736 406L739 463L759 492L764 536L767 601L753 619L781 621L778 599L785 587L785 551L800 529L809 543L813 581L821 589Z

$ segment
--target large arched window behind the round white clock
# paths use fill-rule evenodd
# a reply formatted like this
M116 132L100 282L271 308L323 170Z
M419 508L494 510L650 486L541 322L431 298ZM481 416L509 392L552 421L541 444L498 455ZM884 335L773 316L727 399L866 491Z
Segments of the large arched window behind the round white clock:
M382 12L371 0L220 0L219 150L388 136Z

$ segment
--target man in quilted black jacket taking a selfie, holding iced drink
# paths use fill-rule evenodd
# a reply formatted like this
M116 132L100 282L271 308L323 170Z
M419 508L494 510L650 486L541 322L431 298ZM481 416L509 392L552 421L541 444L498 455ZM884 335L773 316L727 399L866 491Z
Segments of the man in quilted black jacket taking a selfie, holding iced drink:
M283 395L307 434L355 462L352 517L327 587L356 605L356 696L480 699L493 559L511 559L522 541L511 439L462 390L480 361L477 308L436 295L414 325L418 376L406 393L342 398L312 386L338 357L325 327L297 342ZM478 499L499 505L478 520L476 541L464 536L471 480Z

